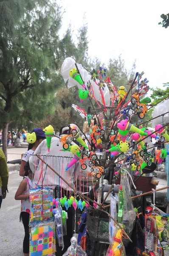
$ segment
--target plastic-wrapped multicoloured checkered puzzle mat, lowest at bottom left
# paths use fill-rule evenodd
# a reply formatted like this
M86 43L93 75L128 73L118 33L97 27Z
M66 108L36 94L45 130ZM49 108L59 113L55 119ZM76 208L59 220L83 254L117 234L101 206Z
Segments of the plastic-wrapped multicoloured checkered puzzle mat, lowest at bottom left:
M31 228L30 256L52 256L56 251L54 218Z

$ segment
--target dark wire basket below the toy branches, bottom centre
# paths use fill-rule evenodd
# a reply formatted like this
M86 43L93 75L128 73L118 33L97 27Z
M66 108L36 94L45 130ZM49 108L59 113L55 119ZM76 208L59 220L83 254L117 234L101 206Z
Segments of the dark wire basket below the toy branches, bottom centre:
M87 211L87 230L90 239L109 243L109 217L101 212L95 216L96 211Z

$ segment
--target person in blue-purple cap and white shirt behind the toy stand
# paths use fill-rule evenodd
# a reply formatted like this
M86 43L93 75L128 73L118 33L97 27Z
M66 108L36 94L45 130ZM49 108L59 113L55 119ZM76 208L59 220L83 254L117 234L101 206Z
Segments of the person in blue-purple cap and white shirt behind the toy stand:
M39 146L39 144L42 142L42 140L45 140L45 132L42 131L42 129L35 128L32 132L35 132L35 134L37 136L37 140L35 141L35 143L32 143L32 144L29 143L28 151L25 152L25 154L23 155L21 165L20 165L20 176L22 176L22 177L24 177L24 175L25 175L24 166L28 162L29 157L34 154L35 149Z

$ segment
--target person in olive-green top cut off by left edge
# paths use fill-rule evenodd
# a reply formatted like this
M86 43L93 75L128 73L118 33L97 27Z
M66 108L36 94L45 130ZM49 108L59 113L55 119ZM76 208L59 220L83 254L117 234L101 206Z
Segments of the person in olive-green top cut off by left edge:
M0 207L2 200L6 198L6 191L8 185L8 166L6 162L6 157L0 149Z

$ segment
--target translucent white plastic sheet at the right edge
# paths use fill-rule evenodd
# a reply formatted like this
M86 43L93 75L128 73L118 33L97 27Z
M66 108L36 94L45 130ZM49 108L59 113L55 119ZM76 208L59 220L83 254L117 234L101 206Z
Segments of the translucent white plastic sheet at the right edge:
M152 117L154 118L154 117L162 115L168 111L169 111L169 99L167 99L164 102L161 102L157 106L155 106ZM152 120L152 127L155 127L155 125L158 125L158 124L165 124L167 122L169 122L169 113Z

